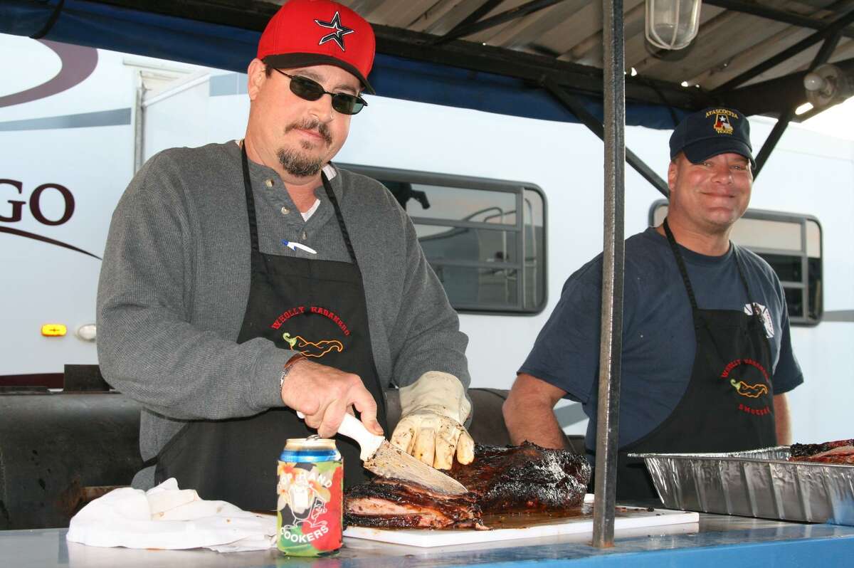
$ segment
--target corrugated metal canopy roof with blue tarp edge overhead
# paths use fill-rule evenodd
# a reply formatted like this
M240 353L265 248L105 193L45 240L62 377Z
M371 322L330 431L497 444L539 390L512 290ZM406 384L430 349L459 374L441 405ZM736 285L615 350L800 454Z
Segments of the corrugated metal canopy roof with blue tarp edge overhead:
M575 121L557 87L600 115L599 0L341 2L375 27L379 95ZM0 32L244 71L280 3L7 0ZM854 0L705 0L698 37L679 51L646 42L645 5L623 1L629 124L672 128L712 104L785 114L806 102L822 45L819 61L854 74Z

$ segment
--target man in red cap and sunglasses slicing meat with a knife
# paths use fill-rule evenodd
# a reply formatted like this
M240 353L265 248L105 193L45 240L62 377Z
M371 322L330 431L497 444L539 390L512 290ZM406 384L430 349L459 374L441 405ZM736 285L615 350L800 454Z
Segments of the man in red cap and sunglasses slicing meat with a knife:
M243 140L161 152L122 196L98 354L143 405L134 486L176 477L272 509L285 440L334 436L352 410L383 433L392 384L392 442L431 466L472 460L457 315L394 196L330 164L373 92L374 50L353 10L284 3L249 64ZM359 483L358 446L337 442Z

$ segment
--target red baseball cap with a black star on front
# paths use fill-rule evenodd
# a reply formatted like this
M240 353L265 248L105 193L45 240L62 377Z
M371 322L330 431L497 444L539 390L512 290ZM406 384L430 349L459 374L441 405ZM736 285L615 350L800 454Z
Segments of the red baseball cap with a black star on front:
M279 69L336 65L359 79L365 91L376 51L371 24L330 0L288 0L267 22L258 59Z

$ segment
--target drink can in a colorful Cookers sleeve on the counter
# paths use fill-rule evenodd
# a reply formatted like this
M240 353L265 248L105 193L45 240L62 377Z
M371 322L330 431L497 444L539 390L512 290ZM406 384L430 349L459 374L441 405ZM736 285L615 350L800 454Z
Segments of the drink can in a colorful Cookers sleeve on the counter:
M278 549L325 556L342 545L344 467L335 440L290 438L278 458Z

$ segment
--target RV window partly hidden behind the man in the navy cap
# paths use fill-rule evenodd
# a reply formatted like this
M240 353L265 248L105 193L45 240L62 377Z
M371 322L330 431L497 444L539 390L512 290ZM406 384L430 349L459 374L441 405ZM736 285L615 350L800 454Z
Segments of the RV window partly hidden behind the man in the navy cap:
M666 201L652 203L651 224L660 225L666 214ZM818 220L748 209L735 223L731 238L761 256L777 273L793 325L816 325L822 320L822 226Z

